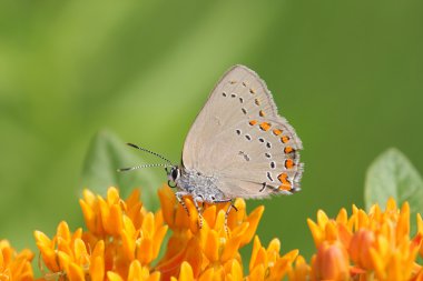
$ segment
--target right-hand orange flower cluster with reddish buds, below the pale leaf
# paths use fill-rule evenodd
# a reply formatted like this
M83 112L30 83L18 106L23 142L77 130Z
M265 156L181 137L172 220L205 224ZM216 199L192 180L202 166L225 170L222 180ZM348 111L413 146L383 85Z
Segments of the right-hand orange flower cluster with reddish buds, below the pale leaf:
M423 253L423 222L410 238L410 207L397 209L393 199L385 211L375 204L368 214L355 205L348 218L342 209L335 220L323 211L317 222L308 220L317 249L311 265L298 258L289 272L291 280L423 280L423 268L416 263ZM423 255L422 255L423 257Z

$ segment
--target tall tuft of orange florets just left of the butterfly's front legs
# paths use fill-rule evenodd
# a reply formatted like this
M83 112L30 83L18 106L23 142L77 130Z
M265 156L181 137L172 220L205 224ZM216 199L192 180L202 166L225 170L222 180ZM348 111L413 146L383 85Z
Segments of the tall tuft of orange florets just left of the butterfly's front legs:
M126 277L128 264L135 259L149 265L157 258L167 225L161 211L154 214L142 208L139 190L135 189L125 201L115 188L108 190L106 200L88 190L83 191L83 198L80 204L90 230L86 240L91 245L96 240L105 240L106 270Z

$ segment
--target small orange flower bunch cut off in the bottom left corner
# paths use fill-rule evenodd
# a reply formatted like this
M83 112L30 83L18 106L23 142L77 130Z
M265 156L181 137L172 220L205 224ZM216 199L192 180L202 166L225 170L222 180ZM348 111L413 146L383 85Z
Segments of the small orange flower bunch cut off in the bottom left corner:
M9 241L0 240L0 280L32 281L32 258L30 250L17 253Z

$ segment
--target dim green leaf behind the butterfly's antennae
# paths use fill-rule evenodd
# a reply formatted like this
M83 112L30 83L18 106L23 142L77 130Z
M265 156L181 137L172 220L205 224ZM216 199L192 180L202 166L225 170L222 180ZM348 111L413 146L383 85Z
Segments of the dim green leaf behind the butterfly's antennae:
M106 194L109 187L119 188L120 195L126 198L134 188L140 188L142 202L150 210L158 205L157 189L160 181L149 169L118 172L117 169L142 163L137 151L126 145L125 141L109 131L97 133L88 149L83 170L82 188L96 193ZM165 180L165 175L164 175Z

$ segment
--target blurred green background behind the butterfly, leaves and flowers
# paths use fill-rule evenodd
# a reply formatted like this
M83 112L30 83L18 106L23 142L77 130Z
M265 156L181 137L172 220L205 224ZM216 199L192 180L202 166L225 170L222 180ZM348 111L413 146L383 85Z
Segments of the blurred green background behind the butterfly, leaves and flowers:
M422 170L422 27L417 0L2 1L0 238L33 249L36 229L82 225L83 159L101 129L179 161L209 91L243 63L305 148L303 191L248 208L266 205L264 243L308 257L306 219L363 207L383 150ZM147 188L166 181L137 171L151 172Z

